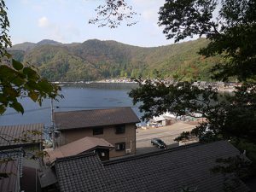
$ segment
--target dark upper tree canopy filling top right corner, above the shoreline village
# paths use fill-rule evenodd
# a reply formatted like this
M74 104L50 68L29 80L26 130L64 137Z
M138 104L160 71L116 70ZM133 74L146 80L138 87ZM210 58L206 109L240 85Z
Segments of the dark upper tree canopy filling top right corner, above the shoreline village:
M255 79L255 4L254 0L166 0L159 24L165 26L166 37L176 42L206 36L211 42L201 49L201 55L224 54L224 60L212 68L215 79Z

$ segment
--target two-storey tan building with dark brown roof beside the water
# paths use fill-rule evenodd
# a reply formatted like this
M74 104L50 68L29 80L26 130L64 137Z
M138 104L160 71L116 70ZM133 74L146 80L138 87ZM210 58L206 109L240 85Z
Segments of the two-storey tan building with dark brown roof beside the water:
M110 157L136 153L136 123L140 120L131 108L55 112L54 119L61 132L57 146L83 137L98 137L114 146Z

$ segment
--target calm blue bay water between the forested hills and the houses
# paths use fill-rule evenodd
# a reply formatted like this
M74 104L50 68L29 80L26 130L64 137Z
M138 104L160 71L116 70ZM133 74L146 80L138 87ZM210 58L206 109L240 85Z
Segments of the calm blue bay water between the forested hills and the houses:
M73 111L97 108L132 107L138 117L141 113L138 106L133 106L128 92L136 84L79 84L65 85L61 94L64 96L59 102L54 102L55 111ZM0 116L0 125L19 125L28 123L44 123L50 125L50 101L44 100L42 107L31 102L28 98L22 99L25 108L22 115L13 109L8 109Z

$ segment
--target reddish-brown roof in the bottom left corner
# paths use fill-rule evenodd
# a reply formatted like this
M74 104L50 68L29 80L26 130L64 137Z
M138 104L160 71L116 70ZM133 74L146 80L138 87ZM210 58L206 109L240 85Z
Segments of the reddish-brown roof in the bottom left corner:
M23 151L20 148L0 151L0 191L20 192L23 174Z

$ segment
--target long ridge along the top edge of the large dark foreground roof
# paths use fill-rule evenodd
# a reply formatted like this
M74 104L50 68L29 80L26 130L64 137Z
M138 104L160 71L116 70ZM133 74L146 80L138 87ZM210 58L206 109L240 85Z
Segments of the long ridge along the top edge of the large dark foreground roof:
M229 143L229 142L226 140L220 140L218 142L211 142L211 143ZM158 155L158 154L166 154L166 153L170 153L172 151L177 151L177 150L181 150L184 148L193 148L193 147L197 147L200 145L206 145L206 144L210 144L210 143L191 143L188 145L178 146L176 148L167 148L167 149L160 150L160 151L148 152L146 154L135 154L133 156L120 158L118 160L107 160L107 161L102 162L102 164L103 164L103 166L108 166L108 165L112 165L115 163L125 162L125 161L129 161L129 160L142 159L142 158L145 158L148 156L153 156L153 155Z

